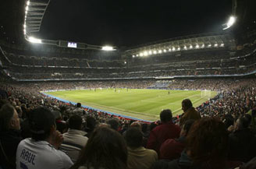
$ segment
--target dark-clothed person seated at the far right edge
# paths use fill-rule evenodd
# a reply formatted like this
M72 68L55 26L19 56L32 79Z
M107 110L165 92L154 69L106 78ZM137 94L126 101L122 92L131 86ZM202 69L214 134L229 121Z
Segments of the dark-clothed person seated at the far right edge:
M247 162L256 156L256 139L248 128L250 119L243 115L236 120L234 131L229 134L229 160Z

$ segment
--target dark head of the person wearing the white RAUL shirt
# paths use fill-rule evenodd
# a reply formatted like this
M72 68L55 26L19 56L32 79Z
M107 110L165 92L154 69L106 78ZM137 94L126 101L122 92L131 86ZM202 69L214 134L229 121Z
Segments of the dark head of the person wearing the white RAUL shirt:
M47 107L37 107L30 112L30 132L35 141L47 140L55 134L55 116Z

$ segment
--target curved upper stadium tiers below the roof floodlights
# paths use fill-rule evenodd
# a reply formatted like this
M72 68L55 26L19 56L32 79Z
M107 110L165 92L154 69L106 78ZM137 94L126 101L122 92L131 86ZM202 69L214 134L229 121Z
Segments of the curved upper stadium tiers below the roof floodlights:
M197 50L161 50L157 55L133 57L126 56L127 51L46 45L16 47L2 43L0 60L5 73L17 80L245 76L256 72L255 37L232 50L226 44Z

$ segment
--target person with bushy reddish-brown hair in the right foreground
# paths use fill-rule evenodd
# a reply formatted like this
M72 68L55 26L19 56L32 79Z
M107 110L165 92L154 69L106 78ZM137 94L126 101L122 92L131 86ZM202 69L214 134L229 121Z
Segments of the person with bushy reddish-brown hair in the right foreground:
M170 162L158 161L151 168L226 169L228 133L222 121L201 118L194 122L181 157Z

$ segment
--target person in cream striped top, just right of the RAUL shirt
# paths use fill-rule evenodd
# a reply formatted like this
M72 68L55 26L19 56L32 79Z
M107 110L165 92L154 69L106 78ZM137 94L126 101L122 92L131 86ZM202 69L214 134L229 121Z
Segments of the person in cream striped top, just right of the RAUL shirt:
M86 145L88 138L85 136L87 132L82 129L82 118L79 115L73 115L69 118L69 130L63 134L63 142L60 146L61 150L64 150L71 160L75 162L80 151Z

